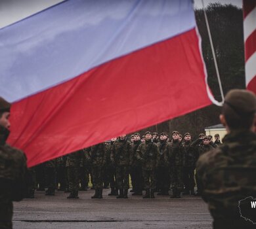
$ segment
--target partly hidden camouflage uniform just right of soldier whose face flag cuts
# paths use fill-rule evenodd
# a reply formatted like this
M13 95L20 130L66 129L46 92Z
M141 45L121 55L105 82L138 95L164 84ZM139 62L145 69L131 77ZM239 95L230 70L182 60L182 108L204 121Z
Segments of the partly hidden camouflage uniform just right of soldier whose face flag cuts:
M141 141L133 141L131 144L131 156L130 156L130 166L131 166L131 180L133 184L132 195L142 195L142 185L143 185L143 177L142 177L142 167L141 163L137 159L137 149L140 145Z

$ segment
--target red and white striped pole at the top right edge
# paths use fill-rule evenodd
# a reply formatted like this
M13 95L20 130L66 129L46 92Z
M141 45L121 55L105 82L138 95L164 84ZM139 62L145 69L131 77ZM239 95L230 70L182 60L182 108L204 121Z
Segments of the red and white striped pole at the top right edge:
M245 82L256 94L256 0L244 0Z

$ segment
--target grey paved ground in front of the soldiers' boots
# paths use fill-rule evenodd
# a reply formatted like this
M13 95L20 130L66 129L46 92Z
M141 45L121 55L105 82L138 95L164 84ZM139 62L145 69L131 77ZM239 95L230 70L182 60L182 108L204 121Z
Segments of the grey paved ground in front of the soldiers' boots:
M109 192L104 189L102 200L91 199L94 190L79 192L77 200L66 199L64 192L36 192L35 199L14 203L14 229L211 228L207 205L198 197L142 199L129 194L128 199L116 199Z

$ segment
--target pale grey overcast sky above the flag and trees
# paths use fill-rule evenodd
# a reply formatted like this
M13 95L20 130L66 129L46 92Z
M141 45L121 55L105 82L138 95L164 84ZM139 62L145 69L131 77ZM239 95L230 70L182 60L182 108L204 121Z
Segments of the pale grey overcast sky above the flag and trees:
M0 28L26 18L63 0L0 0ZM95 0L96 1L96 0ZM182 0L181 0L182 1ZM209 3L230 4L242 7L242 0L203 0L205 7ZM202 0L194 0L195 8L202 8Z

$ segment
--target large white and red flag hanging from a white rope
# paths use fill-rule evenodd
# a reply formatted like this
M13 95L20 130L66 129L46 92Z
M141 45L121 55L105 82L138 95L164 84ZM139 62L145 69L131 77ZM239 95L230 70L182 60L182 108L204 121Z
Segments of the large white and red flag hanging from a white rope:
M212 103L191 0L64 1L0 29L0 58L28 166Z

